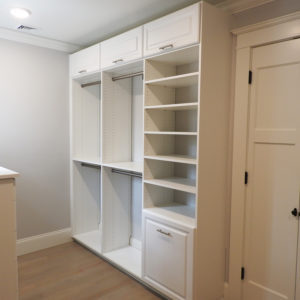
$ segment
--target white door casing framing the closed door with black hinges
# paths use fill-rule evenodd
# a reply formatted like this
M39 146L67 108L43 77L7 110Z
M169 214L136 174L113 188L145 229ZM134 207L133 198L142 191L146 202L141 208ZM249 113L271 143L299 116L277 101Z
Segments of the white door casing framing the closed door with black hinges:
M243 266L244 222L247 170L247 142L251 70L254 47L300 37L300 11L255 25L233 30L236 36L235 88L233 116L232 184L229 281L225 289L226 300L242 299L241 268ZM251 174L249 174L251 180ZM298 261L300 255L298 254ZM299 268L298 268L299 270ZM299 270L300 271L300 270ZM298 298L297 298L298 297ZM296 296L300 299L300 295Z

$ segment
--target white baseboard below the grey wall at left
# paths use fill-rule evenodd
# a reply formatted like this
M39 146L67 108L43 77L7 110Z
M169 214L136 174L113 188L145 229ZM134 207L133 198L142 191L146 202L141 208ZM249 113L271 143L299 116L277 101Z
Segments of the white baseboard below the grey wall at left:
M17 256L70 242L71 232L71 228L65 228L17 240Z

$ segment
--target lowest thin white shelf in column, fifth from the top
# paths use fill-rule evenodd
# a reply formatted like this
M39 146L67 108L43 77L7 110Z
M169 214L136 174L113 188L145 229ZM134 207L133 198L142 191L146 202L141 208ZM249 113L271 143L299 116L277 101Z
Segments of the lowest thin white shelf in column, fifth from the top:
M183 191L187 193L196 193L195 181L188 178L181 177L167 177L161 179L146 179L145 183L162 186L165 188L170 188L178 191Z

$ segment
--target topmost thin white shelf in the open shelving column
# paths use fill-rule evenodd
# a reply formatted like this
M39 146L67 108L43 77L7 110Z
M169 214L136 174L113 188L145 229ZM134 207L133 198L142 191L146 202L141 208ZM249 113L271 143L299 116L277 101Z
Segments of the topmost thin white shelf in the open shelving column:
M176 75L171 77L164 77L160 79L145 81L145 84L165 86L171 88L180 88L198 83L199 72L193 72L183 75Z

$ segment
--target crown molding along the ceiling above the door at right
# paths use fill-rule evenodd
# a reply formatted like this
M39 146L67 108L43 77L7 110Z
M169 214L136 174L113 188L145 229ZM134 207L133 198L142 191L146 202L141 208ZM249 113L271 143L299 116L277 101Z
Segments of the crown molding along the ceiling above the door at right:
M225 0L216 6L224 10L237 14L247 9L273 2L274 0Z

